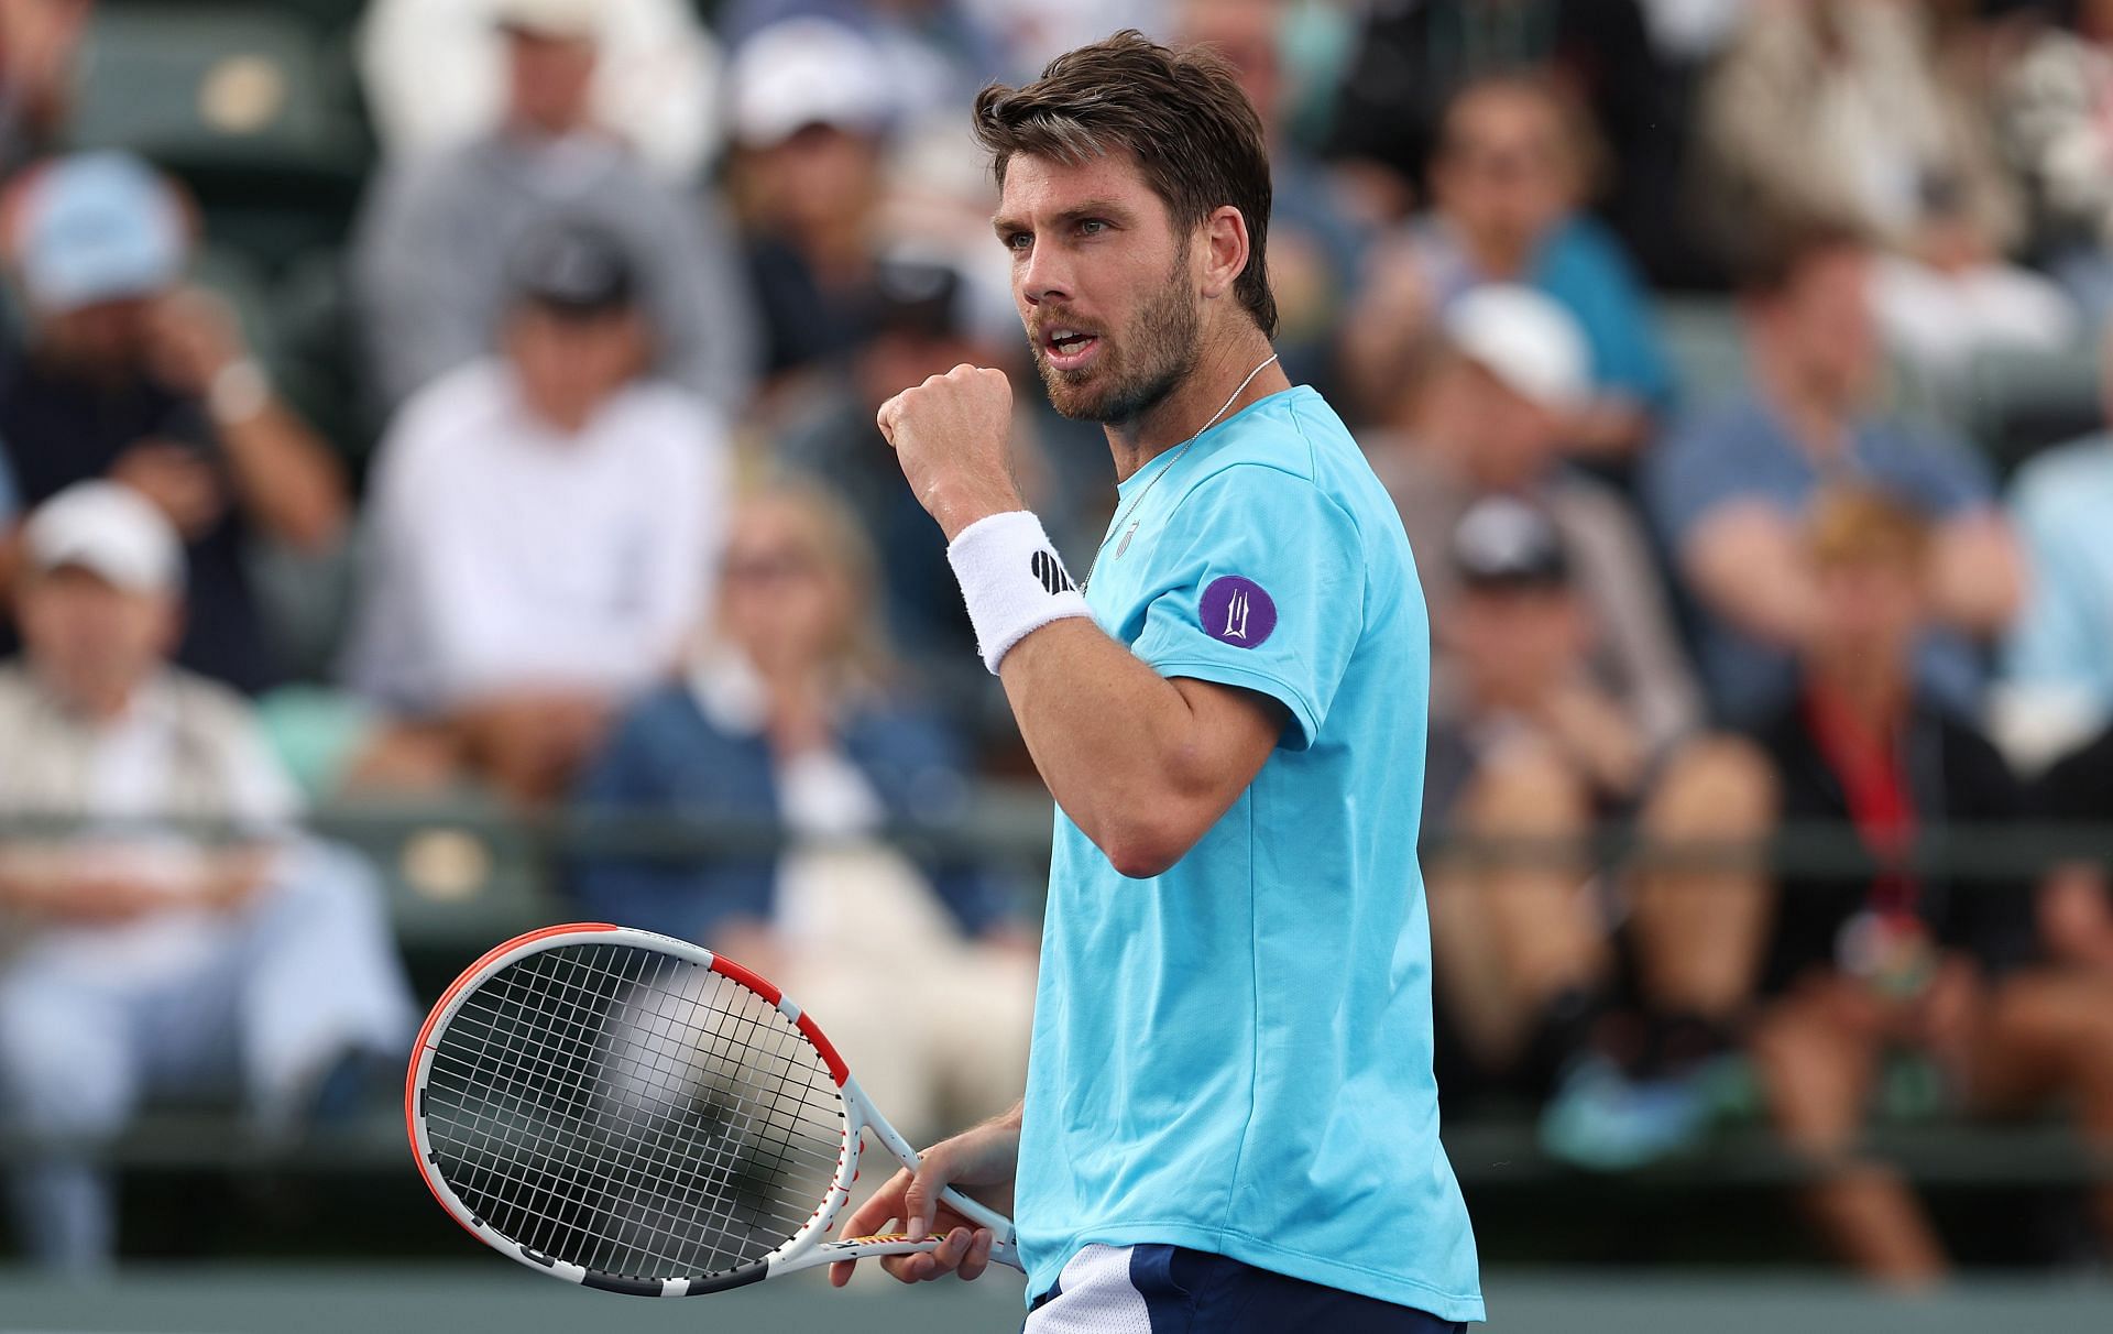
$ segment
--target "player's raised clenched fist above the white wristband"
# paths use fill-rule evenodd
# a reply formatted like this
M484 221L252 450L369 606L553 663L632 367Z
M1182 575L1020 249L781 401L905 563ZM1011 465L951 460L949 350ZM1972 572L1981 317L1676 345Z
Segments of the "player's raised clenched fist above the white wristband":
M947 541L978 518L1027 507L1006 448L1012 431L1006 372L955 366L881 404L877 421L917 503L938 520Z

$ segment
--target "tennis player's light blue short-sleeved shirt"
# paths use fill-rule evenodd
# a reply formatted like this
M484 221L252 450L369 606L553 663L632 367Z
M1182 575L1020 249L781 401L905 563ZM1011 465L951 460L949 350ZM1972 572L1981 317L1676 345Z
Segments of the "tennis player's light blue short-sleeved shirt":
M1122 484L1086 600L1162 677L1291 721L1164 875L1118 875L1056 816L1027 1292L1088 1241L1166 1243L1481 1319L1431 1076L1431 630L1392 501L1321 395L1289 389Z

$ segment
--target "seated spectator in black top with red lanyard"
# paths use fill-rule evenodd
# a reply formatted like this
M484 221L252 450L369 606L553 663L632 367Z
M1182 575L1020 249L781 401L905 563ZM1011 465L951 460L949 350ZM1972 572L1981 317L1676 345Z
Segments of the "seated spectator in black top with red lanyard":
M1891 1167L1855 1152L1881 1059L1936 1061L1971 1114L2073 1101L2113 1144L2113 989L2033 962L2024 886L1967 884L1910 860L1923 835L2014 820L1997 751L1916 683L1940 600L1942 537L1914 507L1838 490L1811 509L1813 622L1794 702L1762 727L1781 814L1847 822L1868 869L1783 877L1754 1057L1779 1133L1821 1175L1805 1201L1828 1241L1891 1283L1942 1275L1944 1249ZM2113 1192L2098 1188L2113 1247Z

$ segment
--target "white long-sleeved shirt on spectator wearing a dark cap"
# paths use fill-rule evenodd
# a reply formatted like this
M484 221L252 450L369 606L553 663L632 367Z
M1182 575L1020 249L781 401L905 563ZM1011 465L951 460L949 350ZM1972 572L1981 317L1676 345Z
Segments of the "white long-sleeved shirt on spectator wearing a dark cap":
M503 362L442 376L380 446L353 683L416 710L647 685L704 615L727 484L725 427L672 385L564 436Z

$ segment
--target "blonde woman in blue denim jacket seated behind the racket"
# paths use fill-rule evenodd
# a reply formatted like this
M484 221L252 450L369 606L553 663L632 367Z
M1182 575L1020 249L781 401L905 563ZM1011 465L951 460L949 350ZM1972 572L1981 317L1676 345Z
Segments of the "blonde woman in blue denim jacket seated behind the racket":
M581 784L587 810L773 822L778 856L598 858L581 907L725 949L803 1004L887 1089L909 1133L1018 1097L1033 958L989 875L915 867L887 825L961 827L968 774L953 738L890 683L875 560L822 493L780 486L733 520L718 645L619 723ZM904 970L902 960L917 960ZM877 992L892 1004L875 1008ZM904 1011L974 1011L902 1025ZM860 1076L864 1078L864 1076ZM921 1131L913 1127L923 1127Z

